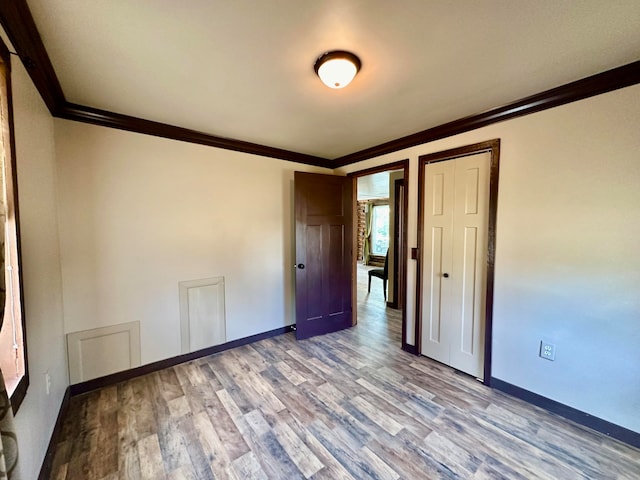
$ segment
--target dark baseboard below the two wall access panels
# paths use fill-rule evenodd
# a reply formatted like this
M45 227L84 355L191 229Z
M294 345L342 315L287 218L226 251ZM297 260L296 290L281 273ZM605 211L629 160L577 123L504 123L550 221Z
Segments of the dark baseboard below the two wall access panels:
M130 380L135 377L147 375L149 373L157 372L165 368L179 365L180 363L190 362L197 358L206 357L207 355L213 355L214 353L223 352L232 348L241 347L250 343L258 342L266 338L282 335L283 333L291 332L295 329L295 325L289 325L286 327L276 328L264 333L258 333L257 335L251 335L250 337L240 338L238 340L232 340L231 342L223 343L221 345L215 345L213 347L203 348L191 353L185 353L183 355L177 355L175 357L159 360L157 362L148 363L140 367L131 368L129 370L123 370L122 372L112 373L105 375L104 377L94 378L87 380L86 382L76 383L71 385L71 396L81 395L83 393L97 390L99 388L115 385L116 383Z

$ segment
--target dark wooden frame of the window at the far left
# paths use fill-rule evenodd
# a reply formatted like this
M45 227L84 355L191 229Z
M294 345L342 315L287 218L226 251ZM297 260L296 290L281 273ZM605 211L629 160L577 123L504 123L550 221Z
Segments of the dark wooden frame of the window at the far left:
M27 329L25 322L25 310L24 310L24 286L22 278L22 248L21 248L21 236L20 236L20 209L18 206L18 174L16 163L16 148L15 148L15 130L13 122L13 96L11 89L11 53L7 46L0 39L0 69L2 69L3 75L0 75L0 89L6 93L6 105L0 98L0 108L2 109L2 115L0 115L0 135L2 138L2 148L5 151L5 172L9 172L5 178L5 185L7 186L7 197L11 195L13 204L13 217L15 224L15 258L17 265L17 297L20 302L20 325L22 327L22 353L24 358L24 375L19 380L18 385L11 394L11 409L14 415L20 408L24 397L27 394L29 387L29 356L27 350ZM1 97L1 95L0 95ZM6 119L6 121L5 121ZM8 137L8 138L7 138ZM6 141L8 140L8 142ZM9 178L11 177L11 178ZM7 217L8 217L7 212ZM7 222L8 224L8 222ZM10 256L7 255L5 262L10 261ZM6 267L6 263L5 263ZM7 285L8 287L8 285ZM5 306L6 308L6 306Z

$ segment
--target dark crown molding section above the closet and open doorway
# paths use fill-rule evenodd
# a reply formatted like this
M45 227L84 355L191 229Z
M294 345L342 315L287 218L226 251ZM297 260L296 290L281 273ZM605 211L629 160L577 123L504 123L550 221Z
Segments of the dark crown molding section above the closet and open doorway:
M637 83L640 83L640 61L598 73L583 78L582 80L567 83L566 85L531 95L530 97L517 100L502 107L460 118L453 122L438 125L437 127L336 158L333 165L334 168L343 167L387 153L397 152L405 148L415 147L423 143L433 142L434 140L440 140L477 128L486 127L494 123L600 95L601 93L629 87Z

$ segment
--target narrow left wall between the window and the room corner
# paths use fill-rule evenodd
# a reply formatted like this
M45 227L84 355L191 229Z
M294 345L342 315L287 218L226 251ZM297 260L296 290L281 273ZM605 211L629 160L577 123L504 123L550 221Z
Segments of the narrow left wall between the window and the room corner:
M30 386L16 415L23 479L37 478L68 386L53 119L12 56L13 110ZM51 376L46 394L44 373Z

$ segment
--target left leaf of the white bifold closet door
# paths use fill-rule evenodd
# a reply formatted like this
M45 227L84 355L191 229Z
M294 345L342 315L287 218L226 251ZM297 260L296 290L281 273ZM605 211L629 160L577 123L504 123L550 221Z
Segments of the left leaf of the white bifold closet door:
M423 205L424 253L422 255L422 334L424 355L449 363L449 343L444 325L449 293L443 274L451 268L454 169L450 162L427 165Z

